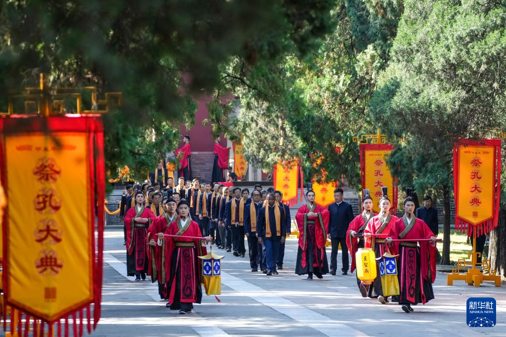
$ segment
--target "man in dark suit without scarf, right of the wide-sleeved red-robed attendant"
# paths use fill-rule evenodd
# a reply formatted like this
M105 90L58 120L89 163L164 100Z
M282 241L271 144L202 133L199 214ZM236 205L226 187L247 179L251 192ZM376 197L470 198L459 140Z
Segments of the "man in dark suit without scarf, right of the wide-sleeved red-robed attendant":
M328 206L330 218L328 220L328 234L332 243L332 252L330 253L330 274L335 275L338 269L338 250L341 244L341 252L343 253L343 275L348 275L348 246L346 245L346 231L350 222L355 217L353 208L350 204L343 200L343 189L334 189L335 203Z

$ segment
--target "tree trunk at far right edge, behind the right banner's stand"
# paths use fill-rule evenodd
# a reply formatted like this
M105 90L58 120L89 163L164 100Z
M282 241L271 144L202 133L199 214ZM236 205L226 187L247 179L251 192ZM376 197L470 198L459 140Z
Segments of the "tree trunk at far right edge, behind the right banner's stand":
M490 267L506 276L506 210L499 210L497 227L490 232L488 251Z

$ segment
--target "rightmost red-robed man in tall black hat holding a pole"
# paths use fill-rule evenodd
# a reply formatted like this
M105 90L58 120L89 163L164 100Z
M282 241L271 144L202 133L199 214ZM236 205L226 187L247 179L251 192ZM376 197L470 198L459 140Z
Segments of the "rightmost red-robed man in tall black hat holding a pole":
M430 241L400 241L395 242L399 258L397 262L397 277L399 278L399 305L407 313L413 312L411 305L426 304L434 299L432 283L436 279L436 261L431 260L430 251L436 249L436 236L429 226L414 216L414 202L411 198L411 188L406 188L407 198L404 201L405 214L398 219L387 243L394 239L430 239ZM433 255L434 256L434 255Z

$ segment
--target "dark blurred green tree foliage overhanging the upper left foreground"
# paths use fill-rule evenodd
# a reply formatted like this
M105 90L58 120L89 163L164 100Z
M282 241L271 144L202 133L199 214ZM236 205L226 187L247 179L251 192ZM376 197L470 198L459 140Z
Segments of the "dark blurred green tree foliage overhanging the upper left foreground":
M222 67L306 55L331 29L332 8L330 0L0 2L0 102L40 72L52 85L121 91L121 109L104 116L108 166L144 174L175 149L179 125L194 123L192 97L223 91Z

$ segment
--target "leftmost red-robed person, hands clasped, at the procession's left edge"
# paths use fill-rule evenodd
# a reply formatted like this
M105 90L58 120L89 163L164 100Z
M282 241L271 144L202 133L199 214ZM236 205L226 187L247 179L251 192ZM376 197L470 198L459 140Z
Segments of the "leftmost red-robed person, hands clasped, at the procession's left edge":
M146 279L148 256L146 249L147 229L155 219L153 212L144 207L144 193L135 194L135 206L126 212L126 274L135 280Z

